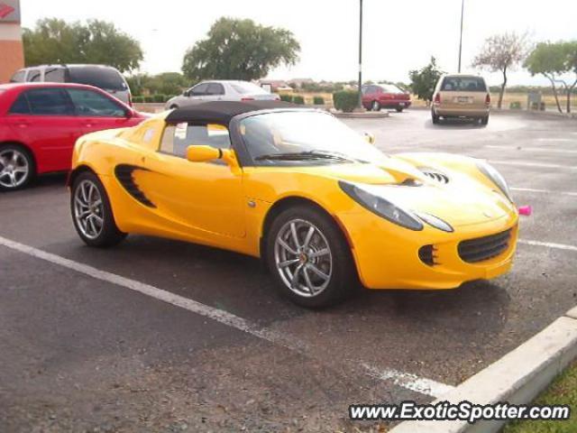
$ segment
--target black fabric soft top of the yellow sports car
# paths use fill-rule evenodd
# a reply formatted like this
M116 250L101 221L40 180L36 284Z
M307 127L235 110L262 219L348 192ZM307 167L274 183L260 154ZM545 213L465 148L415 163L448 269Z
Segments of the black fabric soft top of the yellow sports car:
M166 121L170 124L187 122L228 126L235 115L242 115L252 111L298 107L295 104L284 101L208 101L176 108L166 116Z

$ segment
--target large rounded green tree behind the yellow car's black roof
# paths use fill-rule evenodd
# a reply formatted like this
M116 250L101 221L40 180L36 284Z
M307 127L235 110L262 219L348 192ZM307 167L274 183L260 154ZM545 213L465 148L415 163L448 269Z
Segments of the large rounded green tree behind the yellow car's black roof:
M252 80L265 77L281 64L294 65L300 45L292 32L265 27L252 20L220 18L208 37L184 56L187 78Z

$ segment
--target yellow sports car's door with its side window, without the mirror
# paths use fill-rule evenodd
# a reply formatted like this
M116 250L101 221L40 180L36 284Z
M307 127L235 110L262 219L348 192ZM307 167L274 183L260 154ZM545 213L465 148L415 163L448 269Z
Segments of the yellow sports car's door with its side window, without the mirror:
M228 131L214 125L165 128L160 149L144 160L136 182L170 231L215 239L245 235L242 170L223 161L191 162L189 145L230 148Z

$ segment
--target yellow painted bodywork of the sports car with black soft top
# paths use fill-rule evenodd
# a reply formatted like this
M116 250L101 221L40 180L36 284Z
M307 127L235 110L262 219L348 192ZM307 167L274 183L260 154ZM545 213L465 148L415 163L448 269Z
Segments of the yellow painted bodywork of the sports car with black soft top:
M300 198L322 207L348 240L364 286L371 289L449 289L463 281L507 272L517 241L516 207L468 158L446 154L400 154L380 166L338 163L316 167L241 168L231 152L224 161L192 162L158 152L164 115L125 130L89 134L78 140L73 169L88 168L102 180L116 225L126 233L169 237L261 255L261 237L271 207ZM114 175L118 164L136 166L133 181L154 207L134 199ZM443 168L453 182L439 185L417 167ZM399 187L404 179L421 187ZM362 207L339 180L386 189L396 204L444 219L446 233L397 226ZM508 250L482 263L464 263L457 245L467 239L512 229ZM418 250L434 244L439 264L427 265Z

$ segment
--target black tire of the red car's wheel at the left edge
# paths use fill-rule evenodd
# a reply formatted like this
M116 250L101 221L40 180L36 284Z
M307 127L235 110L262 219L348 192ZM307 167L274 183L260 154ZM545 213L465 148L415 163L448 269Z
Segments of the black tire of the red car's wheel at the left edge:
M17 154L16 163L12 163L14 154ZM10 158L10 163L5 164L0 160L0 190L1 191L16 191L18 189L26 188L32 180L36 178L36 163L32 157L32 153L25 147L19 144L2 144L0 145L0 155L6 155ZM10 172L7 169L10 167ZM14 171L17 170L17 171ZM26 170L22 172L20 170ZM13 181L15 179L15 181Z

